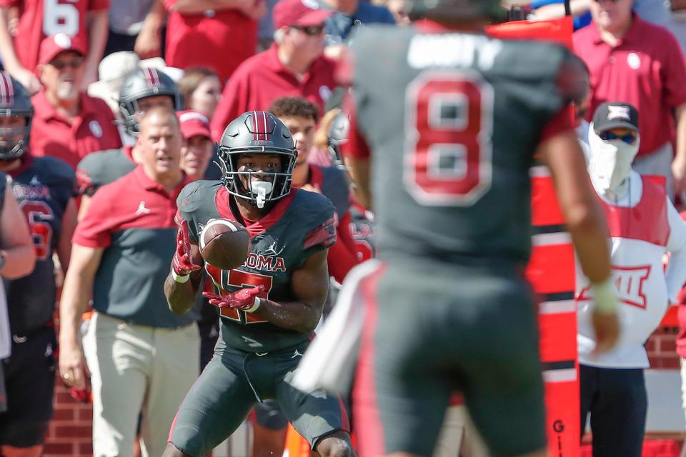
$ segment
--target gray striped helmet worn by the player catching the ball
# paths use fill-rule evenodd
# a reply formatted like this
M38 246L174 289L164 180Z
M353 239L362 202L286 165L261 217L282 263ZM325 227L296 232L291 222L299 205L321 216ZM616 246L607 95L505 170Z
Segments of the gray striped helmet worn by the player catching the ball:
M297 150L288 127L274 114L247 111L238 116L224 130L217 154L224 175L222 181L229 194L262 208L266 202L282 199L291 191ZM238 169L237 161L242 154L278 154L282 158L281 169L277 172ZM271 176L271 189L254 185L253 175ZM242 181L241 176L247 179Z

